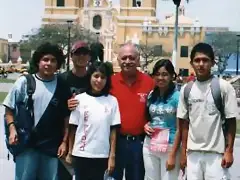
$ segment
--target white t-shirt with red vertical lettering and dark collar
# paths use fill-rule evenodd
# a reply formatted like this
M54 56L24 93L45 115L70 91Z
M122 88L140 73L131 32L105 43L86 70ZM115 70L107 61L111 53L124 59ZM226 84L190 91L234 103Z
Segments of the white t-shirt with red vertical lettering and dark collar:
M120 124L117 99L112 96L94 97L87 93L75 97L79 101L69 123L77 125L72 155L87 158L108 158L110 128Z

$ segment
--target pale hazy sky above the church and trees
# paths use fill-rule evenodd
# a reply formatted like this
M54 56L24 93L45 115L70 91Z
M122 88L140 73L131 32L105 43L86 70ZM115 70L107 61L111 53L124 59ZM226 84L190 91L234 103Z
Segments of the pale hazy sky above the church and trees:
M114 4L120 0L113 0ZM144 0L143 0L144 1ZM161 20L166 14L174 13L172 0L157 0L157 17ZM13 40L20 40L31 29L41 25L44 13L44 0L0 0L0 38L12 34ZM186 15L198 18L201 25L229 27L240 31L240 0L190 0L185 5Z

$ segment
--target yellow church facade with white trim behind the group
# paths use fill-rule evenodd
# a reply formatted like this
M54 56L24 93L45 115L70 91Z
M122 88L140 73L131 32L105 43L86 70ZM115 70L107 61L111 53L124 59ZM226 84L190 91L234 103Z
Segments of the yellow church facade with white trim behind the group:
M156 49L159 59L171 58L175 16L172 13L159 21L156 8L157 0L120 0L117 6L111 0L45 0L42 24L73 20L98 34L104 46L104 59L117 67L116 50L129 41ZM178 30L176 71L184 69L191 73L189 55L192 47L204 40L205 28L197 19L185 16L181 6Z

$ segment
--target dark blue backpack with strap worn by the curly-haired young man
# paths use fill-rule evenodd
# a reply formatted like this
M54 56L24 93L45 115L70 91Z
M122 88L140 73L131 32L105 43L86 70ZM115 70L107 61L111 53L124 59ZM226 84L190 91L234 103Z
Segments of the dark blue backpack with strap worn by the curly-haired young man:
M32 95L36 89L36 82L31 74L24 75L27 79L27 102L20 102L16 104L14 110L14 125L18 134L18 144L9 144L9 127L6 123L6 115L4 115L6 146L14 159L17 155L22 153L30 142L30 135L34 127L34 109ZM9 159L9 154L8 154Z

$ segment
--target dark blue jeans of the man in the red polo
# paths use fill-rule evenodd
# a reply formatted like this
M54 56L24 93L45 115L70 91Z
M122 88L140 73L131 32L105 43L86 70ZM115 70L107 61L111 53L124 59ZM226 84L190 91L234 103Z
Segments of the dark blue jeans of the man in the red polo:
M113 177L126 180L144 180L143 138L127 139L118 136L116 144L116 162Z

